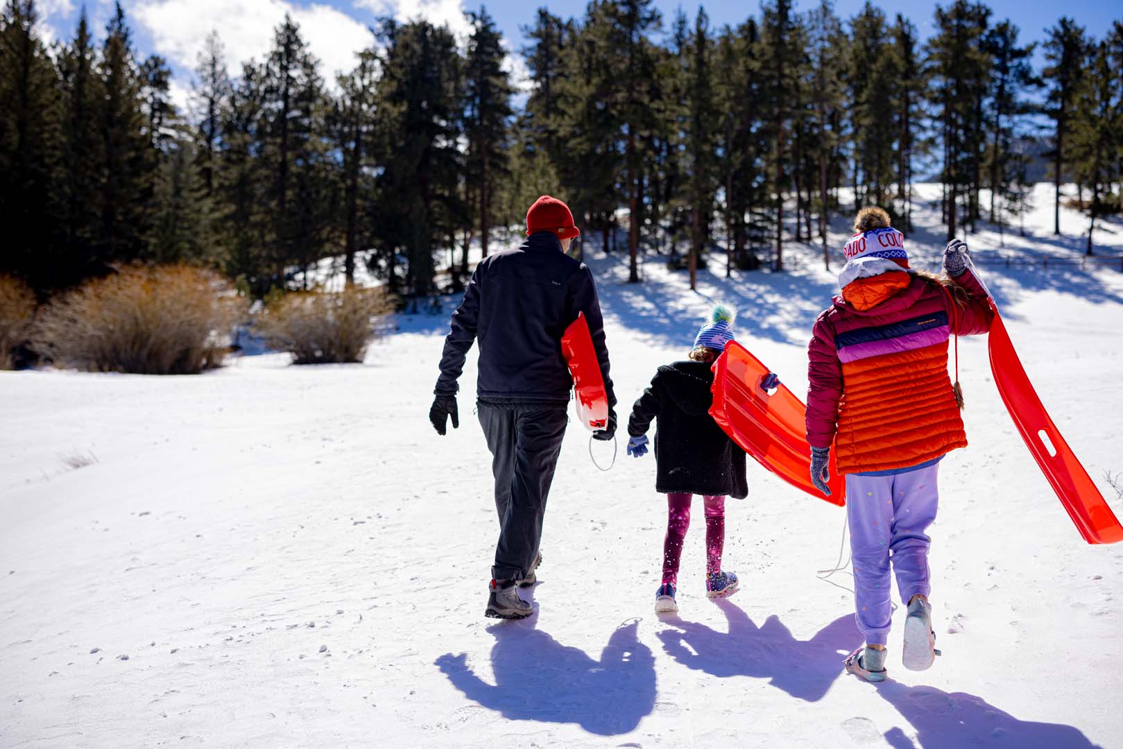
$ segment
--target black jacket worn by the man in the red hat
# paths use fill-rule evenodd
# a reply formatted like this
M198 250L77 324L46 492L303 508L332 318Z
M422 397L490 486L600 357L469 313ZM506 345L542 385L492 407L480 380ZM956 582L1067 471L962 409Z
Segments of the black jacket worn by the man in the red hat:
M433 392L455 394L472 341L480 341L476 395L491 403L566 403L573 378L562 356L562 335L584 312L604 376L609 404L617 398L596 285L588 267L562 252L550 231L518 249L489 255L472 274L445 338Z

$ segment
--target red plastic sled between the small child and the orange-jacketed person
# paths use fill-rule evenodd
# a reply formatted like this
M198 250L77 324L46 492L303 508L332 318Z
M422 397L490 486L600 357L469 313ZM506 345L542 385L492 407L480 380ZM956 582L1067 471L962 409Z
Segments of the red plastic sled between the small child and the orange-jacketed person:
M846 504L846 481L838 475L831 450L831 495L811 483L811 446L806 440L806 407L785 385L772 395L760 390L768 367L748 349L730 341L713 363L710 415L757 463L812 496Z

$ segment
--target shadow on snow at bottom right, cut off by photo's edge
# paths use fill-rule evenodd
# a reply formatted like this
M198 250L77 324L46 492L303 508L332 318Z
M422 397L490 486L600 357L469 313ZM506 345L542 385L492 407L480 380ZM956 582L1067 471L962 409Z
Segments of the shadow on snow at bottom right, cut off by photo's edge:
M948 693L931 686L905 686L887 681L877 693L892 704L916 730L914 742L900 728L885 733L894 749L958 749L989 743L1019 749L1079 749L1095 747L1084 733L1061 723L1017 720L982 697L964 692Z

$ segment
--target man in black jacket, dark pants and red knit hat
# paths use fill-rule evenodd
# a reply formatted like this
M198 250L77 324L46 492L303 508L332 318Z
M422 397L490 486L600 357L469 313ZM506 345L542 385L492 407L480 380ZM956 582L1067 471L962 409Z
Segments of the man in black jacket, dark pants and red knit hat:
M585 314L609 396L609 423L595 432L612 439L617 403L609 377L604 322L593 275L566 255L581 235L560 200L542 195L527 211L527 240L485 257L453 313L429 420L444 435L449 417L459 427L457 378L472 341L480 341L476 383L480 426L492 454L500 536L485 615L522 619L531 613L515 583L532 585L541 560L546 497L568 417L573 380L562 356L565 329Z

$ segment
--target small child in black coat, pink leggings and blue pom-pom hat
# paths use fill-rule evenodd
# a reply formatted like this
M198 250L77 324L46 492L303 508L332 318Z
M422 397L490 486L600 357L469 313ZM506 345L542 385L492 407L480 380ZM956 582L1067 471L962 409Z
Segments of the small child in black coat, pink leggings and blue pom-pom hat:
M733 339L736 311L716 304L709 323L694 340L690 360L659 367L651 385L632 407L628 420L628 455L647 454L647 430L656 420L655 491L667 495L667 536L663 542L663 583L656 593L657 612L678 611L675 603L678 560L691 522L691 501L701 494L705 505L706 596L732 595L737 575L722 572L725 541L725 496L743 499L745 451L710 415L713 360Z

